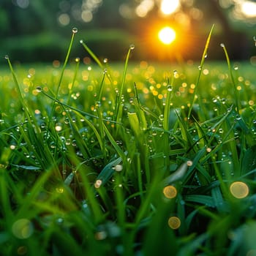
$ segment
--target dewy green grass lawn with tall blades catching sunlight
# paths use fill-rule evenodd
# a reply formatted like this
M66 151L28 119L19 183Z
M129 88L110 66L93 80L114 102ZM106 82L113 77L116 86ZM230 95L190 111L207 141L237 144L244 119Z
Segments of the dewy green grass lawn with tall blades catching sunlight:
M255 67L209 62L211 32L200 69L83 64L77 36L1 64L1 255L255 255Z

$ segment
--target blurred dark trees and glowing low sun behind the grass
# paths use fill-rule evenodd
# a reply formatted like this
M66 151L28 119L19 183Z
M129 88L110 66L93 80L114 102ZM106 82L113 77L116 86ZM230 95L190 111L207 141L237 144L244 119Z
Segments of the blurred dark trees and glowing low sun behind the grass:
M100 58L200 59L215 24L209 58L256 63L256 1L247 0L1 0L0 56L20 62L63 60L72 34L72 56L86 59L83 39ZM161 29L165 28L165 30Z

